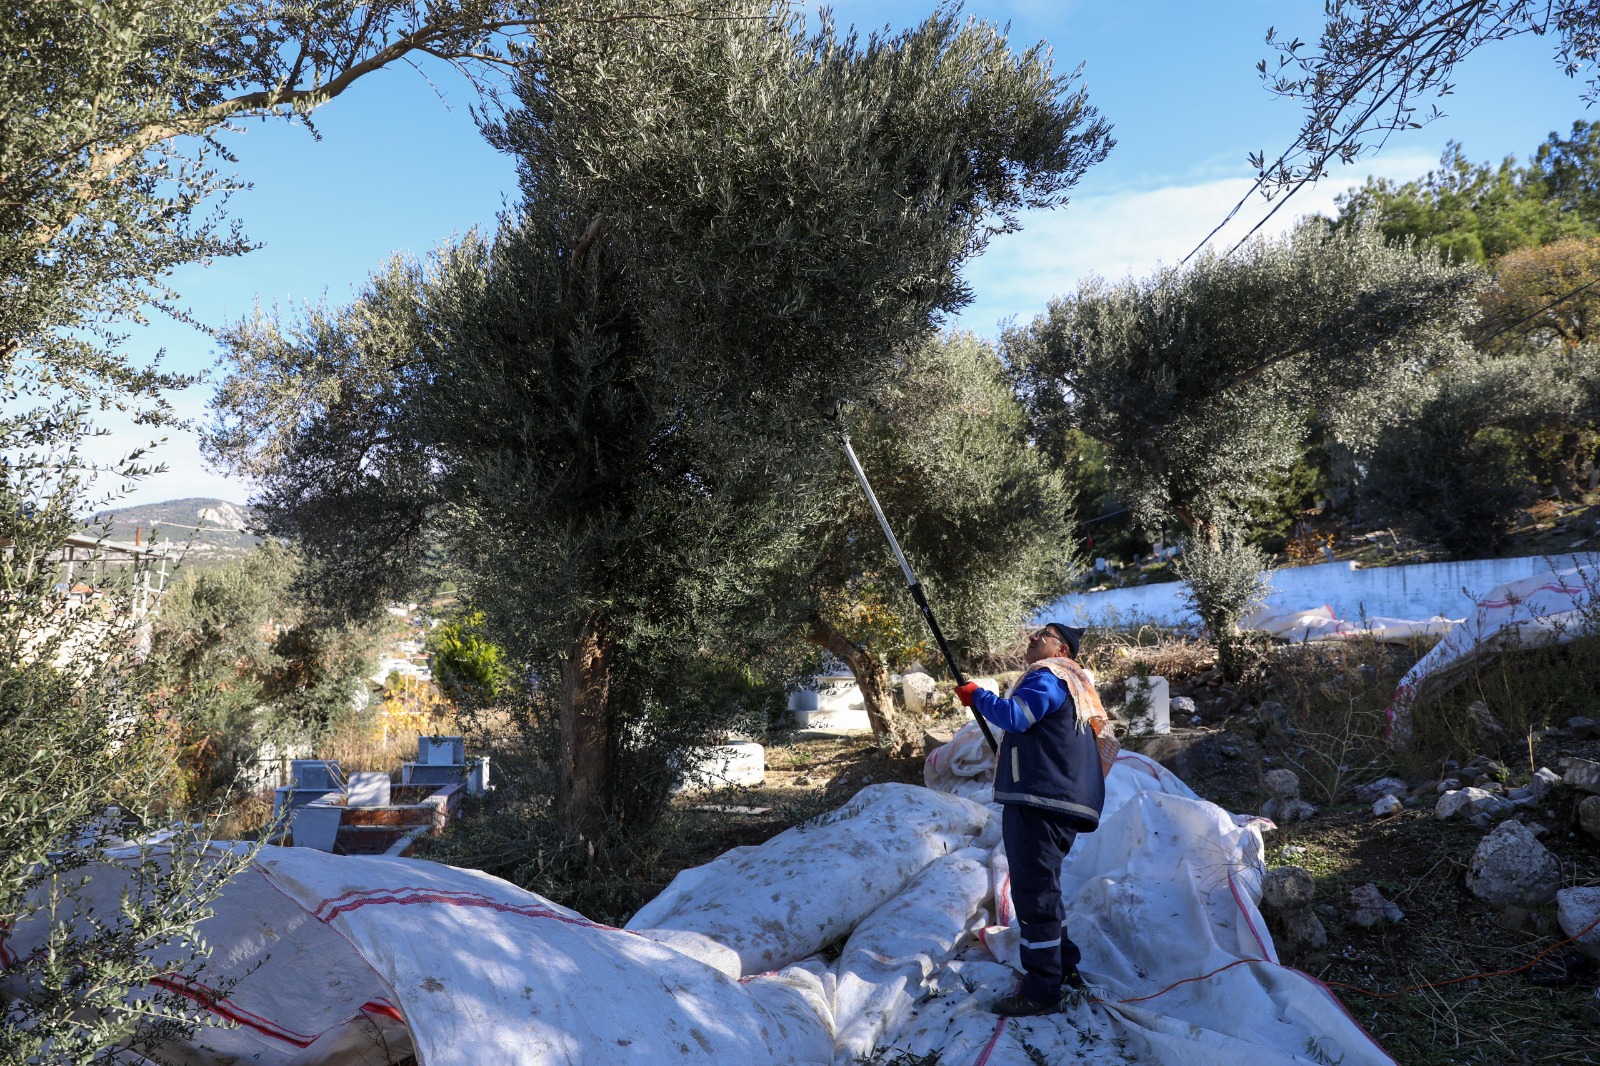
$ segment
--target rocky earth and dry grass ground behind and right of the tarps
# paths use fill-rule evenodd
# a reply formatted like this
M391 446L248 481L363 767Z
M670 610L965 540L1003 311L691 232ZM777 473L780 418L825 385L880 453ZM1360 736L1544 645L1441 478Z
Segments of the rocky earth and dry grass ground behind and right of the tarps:
M1600 735L1565 725L1581 715L1498 738L1464 715L1459 751L1395 762L1374 755L1374 722L1414 650L1269 648L1240 683L1197 645L1094 655L1110 706L1117 675L1141 661L1173 682L1173 733L1133 735L1130 747L1232 812L1277 816L1266 908L1277 943L1398 1063L1600 1064L1600 946L1563 943L1600 919L1600 888L1584 892L1600 887L1600 840L1586 829L1600 831ZM1600 709L1600 677L1589 683ZM1347 715L1330 714L1341 706ZM934 736L960 723L949 704L925 722ZM685 844L659 884L886 779L920 781L922 759L888 757L866 736L778 733L763 786L685 804ZM643 901L659 885L638 890Z

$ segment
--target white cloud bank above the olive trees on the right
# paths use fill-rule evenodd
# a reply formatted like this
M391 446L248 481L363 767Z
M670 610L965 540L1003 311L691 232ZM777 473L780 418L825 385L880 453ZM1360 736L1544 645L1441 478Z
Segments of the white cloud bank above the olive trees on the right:
M1435 165L1432 157L1395 155L1365 173L1410 179ZM1365 178L1363 173L1363 178ZM1302 190L1272 216L1261 232L1282 234L1306 214L1333 214L1334 198L1360 184L1328 178ZM1099 274L1110 280L1142 277L1179 262L1200 243L1251 186L1250 178L1224 178L1158 189L1074 197L1064 210L1024 218L1018 234L997 238L968 274L976 299L960 325L995 335L1002 319L1027 322L1050 299L1077 288L1078 279ZM1274 205L1251 198L1211 246L1227 250Z

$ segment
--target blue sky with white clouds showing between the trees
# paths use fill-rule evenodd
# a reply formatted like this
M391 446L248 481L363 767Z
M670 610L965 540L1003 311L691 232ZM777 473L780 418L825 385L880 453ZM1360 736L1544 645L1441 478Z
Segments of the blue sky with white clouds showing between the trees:
M846 0L840 24L909 26L931 10L917 0ZM1080 184L1072 203L1024 219L968 271L974 303L958 325L995 335L1006 317L1029 319L1078 277L1147 274L1182 258L1248 187L1251 150L1286 146L1299 112L1272 98L1254 70L1267 58L1269 26L1314 38L1318 0L973 0L968 14L1010 22L1016 46L1048 42L1058 69L1085 64L1090 99L1112 122L1117 147ZM1349 173L1302 192L1270 230L1304 213L1331 210L1334 195L1370 173L1413 178L1448 139L1470 158L1526 155L1552 130L1590 117L1581 85L1550 59L1554 42L1523 38L1486 48L1458 72L1446 117L1395 136ZM467 229L493 227L515 194L512 162L488 149L469 115L470 88L438 64L384 70L317 112L323 138L277 123L251 123L227 139L253 187L230 214L262 243L240 259L190 267L173 280L202 322L221 325L262 306L347 301L387 256L426 254ZM1248 227L1267 205L1242 213ZM1238 229L1237 232L1243 232ZM1227 230L1219 240L1224 240ZM134 352L166 349L174 370L211 367L210 339L154 322ZM181 397L203 416L210 389ZM118 431L107 448L144 439ZM168 474L141 483L125 503L222 496L243 503L248 487L203 467L195 439L173 434L157 453Z

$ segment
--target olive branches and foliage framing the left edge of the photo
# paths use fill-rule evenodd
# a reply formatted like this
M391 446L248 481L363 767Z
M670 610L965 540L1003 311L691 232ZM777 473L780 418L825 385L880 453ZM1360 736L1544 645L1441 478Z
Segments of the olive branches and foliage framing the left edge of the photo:
M98 458L96 419L125 411L158 434L178 421L170 392L192 383L130 352L123 331L150 311L184 315L166 282L176 267L248 248L221 214L238 182L219 138L248 117L304 120L410 56L482 70L550 13L501 0L0 10L0 924L13 938L51 925L40 952L8 965L5 1061L88 1061L112 1044L154 1055L202 1020L195 1002L144 986L152 957L166 978L203 962L190 930L230 869L200 858L205 834L173 837L117 914L90 920L78 879L125 831L178 813L179 712L226 717L243 693L202 682L170 704L171 677L134 653L149 632L133 600L101 589L74 613L56 581L82 515L152 471L139 450ZM202 675L226 671L190 651ZM310 709L322 680L296 680L290 703Z

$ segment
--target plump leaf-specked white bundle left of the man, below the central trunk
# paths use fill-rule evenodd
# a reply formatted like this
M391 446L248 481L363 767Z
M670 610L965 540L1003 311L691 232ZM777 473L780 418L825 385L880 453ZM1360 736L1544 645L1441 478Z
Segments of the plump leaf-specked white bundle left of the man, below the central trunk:
M850 933L987 821L957 795L869 784L830 815L678 874L627 927L704 933L739 952L746 973L774 970Z

